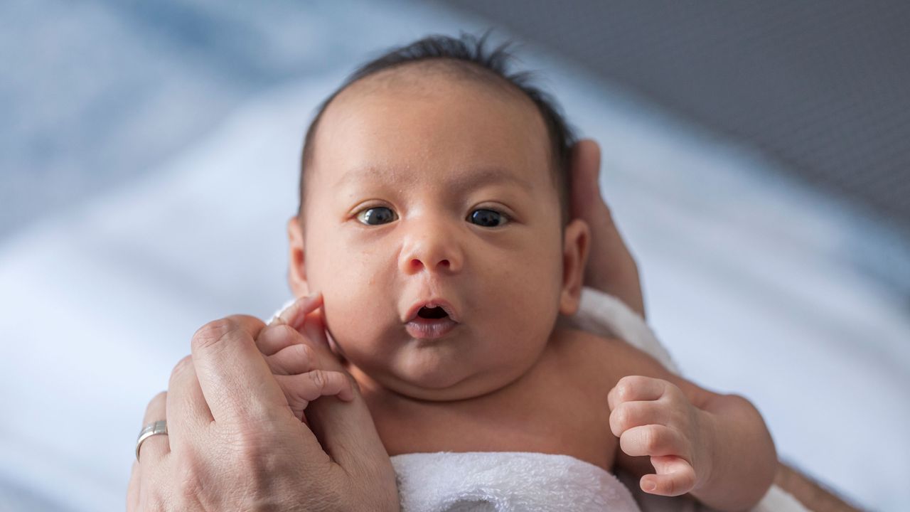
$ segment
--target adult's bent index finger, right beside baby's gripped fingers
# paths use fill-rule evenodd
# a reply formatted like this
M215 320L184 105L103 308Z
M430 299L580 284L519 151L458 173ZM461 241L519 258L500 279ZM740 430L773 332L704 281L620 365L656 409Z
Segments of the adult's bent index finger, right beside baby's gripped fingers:
M193 365L216 423L249 424L286 410L284 394L256 346L264 326L253 316L234 315L193 335Z

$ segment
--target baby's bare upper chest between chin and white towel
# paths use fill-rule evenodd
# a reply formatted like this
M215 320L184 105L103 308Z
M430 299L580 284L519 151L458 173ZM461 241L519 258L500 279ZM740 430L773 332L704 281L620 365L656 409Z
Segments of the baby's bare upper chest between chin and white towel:
M457 404L372 411L390 456L420 452L537 452L608 471L618 447L609 389L579 375L541 374L510 393Z

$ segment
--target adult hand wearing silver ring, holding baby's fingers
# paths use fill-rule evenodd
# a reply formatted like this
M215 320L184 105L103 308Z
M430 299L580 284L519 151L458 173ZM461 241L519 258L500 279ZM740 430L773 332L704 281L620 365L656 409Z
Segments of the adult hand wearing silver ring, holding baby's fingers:
M167 418L133 465L126 509L398 510L389 456L362 400L324 397L295 417L255 344L250 316L208 323L144 425ZM364 410L359 410L363 408ZM321 445L320 445L321 441Z

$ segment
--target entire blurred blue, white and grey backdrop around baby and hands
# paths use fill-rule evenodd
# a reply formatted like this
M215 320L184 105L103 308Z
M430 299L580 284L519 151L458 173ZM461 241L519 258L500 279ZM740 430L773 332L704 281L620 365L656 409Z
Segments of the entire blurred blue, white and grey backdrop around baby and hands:
M389 46L487 27L601 142L686 376L858 505L910 502L907 8L514 4L0 5L0 509L122 509L192 333L289 296L319 101Z

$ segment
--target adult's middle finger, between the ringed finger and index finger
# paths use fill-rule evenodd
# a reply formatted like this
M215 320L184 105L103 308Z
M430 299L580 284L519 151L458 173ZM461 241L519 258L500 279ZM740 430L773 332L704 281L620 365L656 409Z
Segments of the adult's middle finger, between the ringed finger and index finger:
M214 421L202 394L193 357L187 355L171 371L167 383L167 435L172 449L193 443L198 432Z

